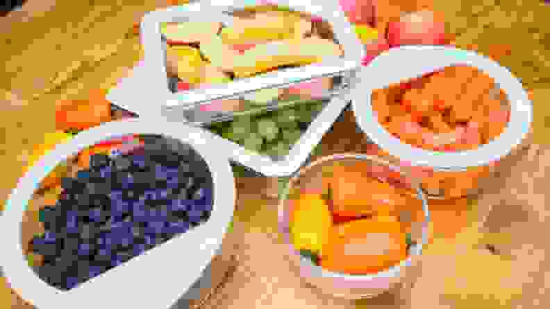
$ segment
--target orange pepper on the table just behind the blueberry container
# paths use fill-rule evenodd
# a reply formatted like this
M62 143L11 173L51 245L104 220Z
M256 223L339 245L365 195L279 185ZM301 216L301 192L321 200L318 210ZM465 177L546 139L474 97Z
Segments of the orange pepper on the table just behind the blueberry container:
M111 106L105 96L105 91L96 90L88 100L56 105L56 130L86 130L111 121Z

